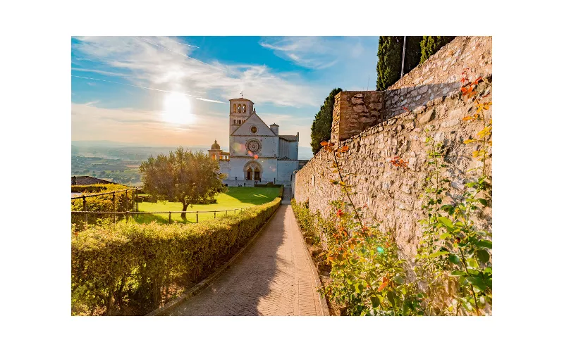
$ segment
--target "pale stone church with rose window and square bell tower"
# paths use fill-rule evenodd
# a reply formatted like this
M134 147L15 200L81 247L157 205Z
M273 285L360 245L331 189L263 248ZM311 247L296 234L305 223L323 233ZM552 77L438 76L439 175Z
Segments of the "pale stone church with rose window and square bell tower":
M255 111L255 103L239 98L229 101L229 151L217 141L208 155L219 161L223 182L235 184L290 184L298 170L300 133L278 134L278 125L266 125Z

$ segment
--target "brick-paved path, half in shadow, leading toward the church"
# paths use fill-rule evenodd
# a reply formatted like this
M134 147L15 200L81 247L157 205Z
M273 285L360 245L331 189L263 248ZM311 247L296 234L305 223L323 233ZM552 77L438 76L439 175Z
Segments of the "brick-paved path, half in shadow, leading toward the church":
M292 208L281 205L262 233L207 289L168 315L322 315L316 276Z

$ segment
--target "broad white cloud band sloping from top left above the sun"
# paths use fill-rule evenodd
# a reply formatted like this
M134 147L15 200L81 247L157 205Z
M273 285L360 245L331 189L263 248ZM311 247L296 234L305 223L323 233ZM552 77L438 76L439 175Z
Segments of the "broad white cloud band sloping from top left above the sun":
M240 95L276 106L317 106L324 92L291 73L264 65L224 65L192 58L196 47L168 37L77 37L73 49L89 59L128 70L137 86L173 92L203 92L227 101Z

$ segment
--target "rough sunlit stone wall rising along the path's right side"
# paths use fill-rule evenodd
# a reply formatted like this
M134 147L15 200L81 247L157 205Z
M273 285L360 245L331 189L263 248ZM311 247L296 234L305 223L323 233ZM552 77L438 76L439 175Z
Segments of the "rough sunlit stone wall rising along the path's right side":
M452 181L447 194L450 200L460 197L468 181L467 170L480 164L471 156L477 146L462 143L483 128L482 122L462 121L472 108L472 103L460 96L462 68L470 69L470 79L484 77L479 89L491 92L491 37L457 37L385 92L341 92L336 96L333 119L338 113L336 125L344 122L345 128L333 125L331 140L350 148L341 163L346 172L356 174L348 176L348 183L358 191L353 201L357 206L367 204L367 218L380 222L382 230L393 230L407 258L415 257L421 236L417 220L423 215L420 196L427 174L424 130L446 146L448 168L444 176ZM381 106L374 102L379 96L383 96ZM362 99L362 103L353 99ZM355 106L364 106L367 111L357 111ZM418 122L401 106L413 108ZM486 113L491 116L491 109ZM359 119L357 124L352 123L355 119ZM382 121L374 124L378 119ZM363 124L372 127L347 137ZM411 171L393 167L389 161L394 156L407 161ZM309 201L309 208L323 215L328 215L329 202L341 197L340 187L329 182L334 178L331 158L321 150L295 175L296 201ZM491 165L486 165L486 170L491 175ZM478 214L476 221L491 230L491 213Z

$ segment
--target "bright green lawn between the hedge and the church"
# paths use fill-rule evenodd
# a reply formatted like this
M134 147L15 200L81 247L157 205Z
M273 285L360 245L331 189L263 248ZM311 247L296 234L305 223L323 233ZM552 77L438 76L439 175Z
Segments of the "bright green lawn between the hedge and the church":
M279 192L279 188L269 188L269 187L228 187L229 191L227 193L221 193L216 196L216 204L198 204L192 207L188 207L187 211L198 211L198 212L211 212L211 213L198 213L198 222L203 220L213 219L214 213L216 211L216 217L221 217L225 215L225 210L231 210L235 208L247 208L250 206L259 206L260 204L268 203L275 199ZM223 210L223 212L221 212ZM153 212L153 211L182 211L182 203L180 202L157 202L149 203L143 202L139 203L139 211ZM228 214L233 214L233 211L228 212ZM183 222L180 218L180 214L172 214L173 222ZM186 214L186 222L196 222L195 213ZM156 220L161 223L168 223L168 214L143 214L135 217L137 222L151 222Z

